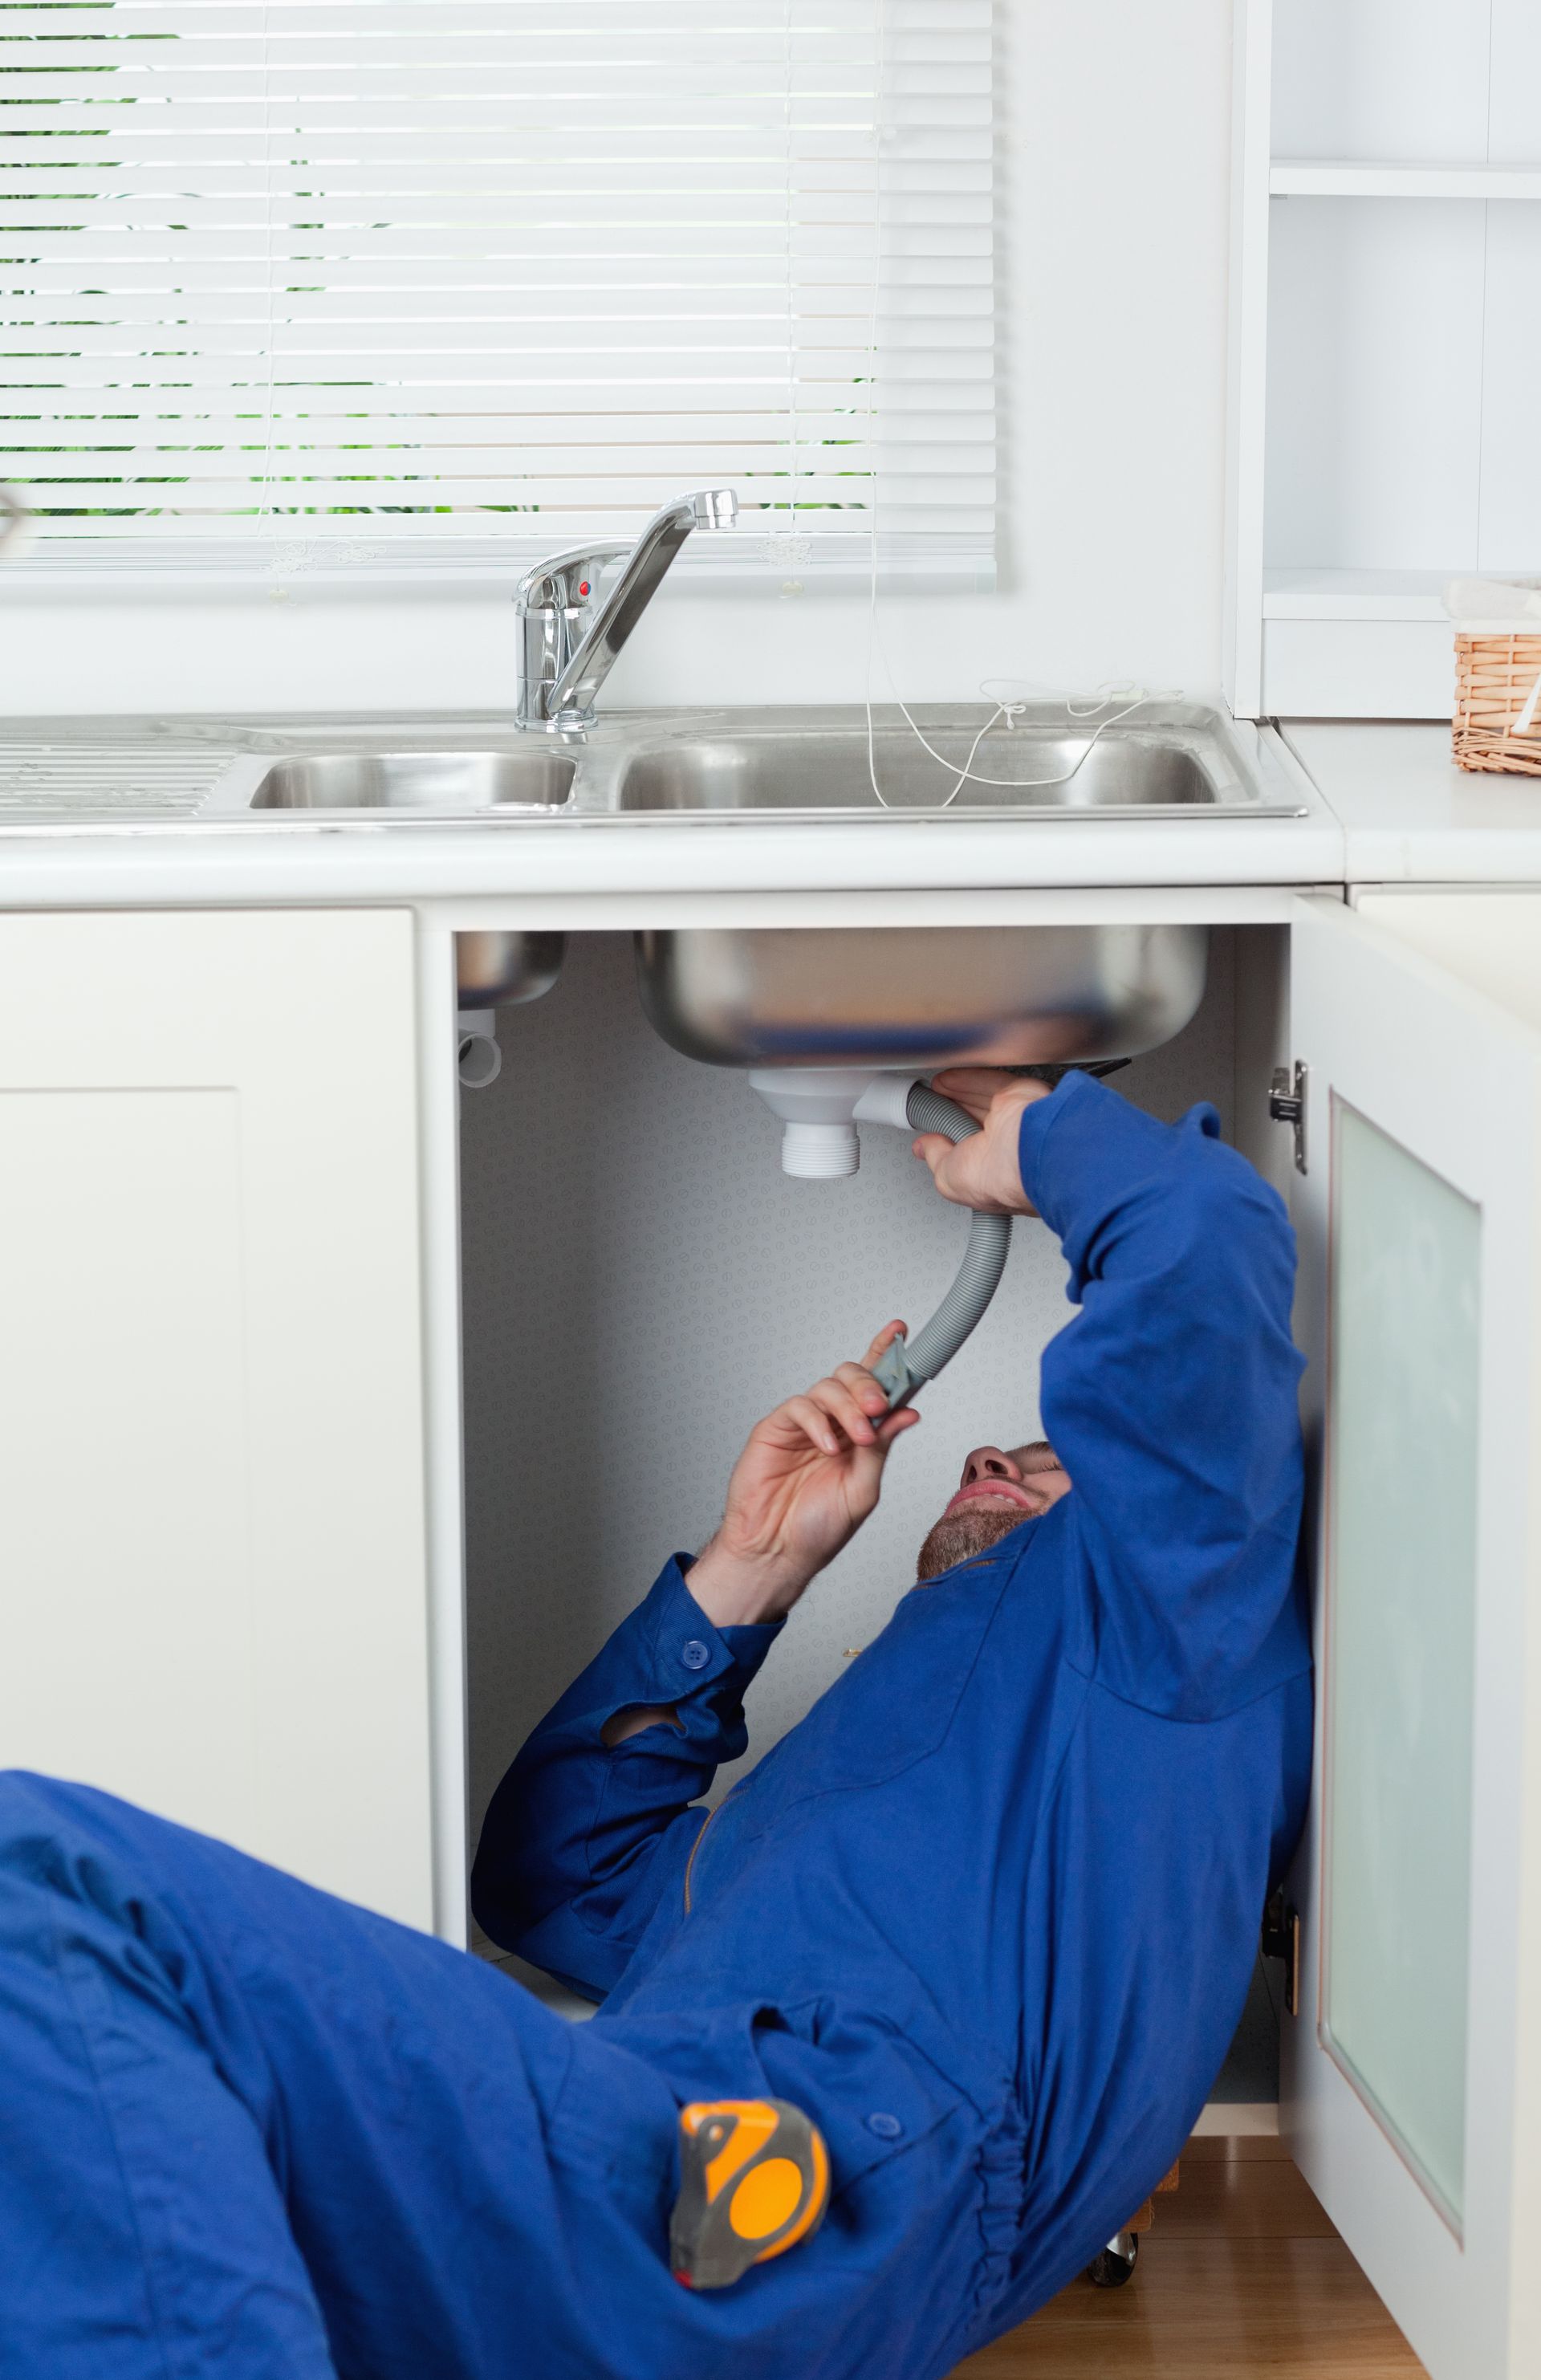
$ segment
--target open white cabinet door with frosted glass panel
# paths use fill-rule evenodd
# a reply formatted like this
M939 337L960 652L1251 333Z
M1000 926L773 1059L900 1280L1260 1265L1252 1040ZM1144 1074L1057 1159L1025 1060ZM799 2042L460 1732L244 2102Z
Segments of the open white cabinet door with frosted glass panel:
M1291 1052L1317 1766L1282 2125L1434 2380L1522 2380L1541 2370L1541 1031L1301 900Z

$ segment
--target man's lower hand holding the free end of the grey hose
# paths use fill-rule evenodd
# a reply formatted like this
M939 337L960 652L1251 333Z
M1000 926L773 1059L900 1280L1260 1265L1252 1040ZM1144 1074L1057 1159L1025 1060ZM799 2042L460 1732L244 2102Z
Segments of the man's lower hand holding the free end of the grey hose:
M723 1526L690 1573L716 1628L778 1621L878 1504L882 1466L920 1414L887 1411L870 1366L904 1323L887 1323L861 1364L839 1364L749 1433L728 1480Z

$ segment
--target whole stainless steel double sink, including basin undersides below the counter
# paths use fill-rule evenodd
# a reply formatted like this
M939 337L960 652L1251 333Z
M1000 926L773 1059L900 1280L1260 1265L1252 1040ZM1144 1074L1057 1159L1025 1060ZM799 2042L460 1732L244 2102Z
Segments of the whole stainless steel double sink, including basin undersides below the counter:
M1032 881L1020 838L1056 821L1073 821L1092 854L1106 821L1289 819L1306 804L1270 735L1203 702L1153 700L1127 716L1118 704L1080 716L1065 702L920 704L911 719L875 709L870 762L861 704L611 712L587 735L521 733L507 714L31 721L0 735L0 833L36 833L40 819L88 833L131 821L247 835L759 828L778 840L946 826L975 843L968 881L989 885ZM637 938L656 1031L718 1066L1132 1057L1182 1031L1206 962L1203 926L692 926ZM461 1007L540 997L559 966L554 931L464 933Z

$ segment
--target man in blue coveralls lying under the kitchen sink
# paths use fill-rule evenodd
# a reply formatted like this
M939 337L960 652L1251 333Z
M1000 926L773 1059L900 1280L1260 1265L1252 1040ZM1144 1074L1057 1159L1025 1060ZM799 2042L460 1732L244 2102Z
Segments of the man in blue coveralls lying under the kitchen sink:
M504 1975L86 1787L0 1787L0 2368L939 2380L1177 2156L1310 1756L1294 1250L1210 1109L963 1071L944 1197L1042 1214L1046 1442L975 1449L878 1642L706 1818L787 1609L916 1414L763 1421L504 1778ZM868 1361L875 1357L880 1338ZM687 2102L782 2099L818 2232L680 2290Z

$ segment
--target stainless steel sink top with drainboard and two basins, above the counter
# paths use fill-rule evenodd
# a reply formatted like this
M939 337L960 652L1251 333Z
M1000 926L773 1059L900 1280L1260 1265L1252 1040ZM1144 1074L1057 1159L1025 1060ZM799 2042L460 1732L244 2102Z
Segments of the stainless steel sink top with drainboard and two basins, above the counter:
M882 835L946 819L963 833L1034 833L1056 821L1289 819L1303 807L1268 735L1182 700L1127 714L1118 702L1087 714L930 702L908 719L875 707L870 764L858 702L609 712L587 735L521 733L507 714L19 721L0 733L0 833L40 819L633 835L799 823Z

